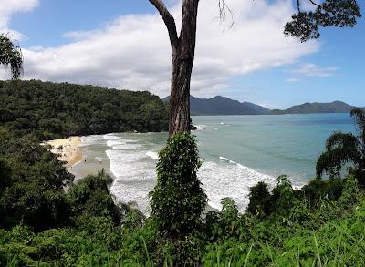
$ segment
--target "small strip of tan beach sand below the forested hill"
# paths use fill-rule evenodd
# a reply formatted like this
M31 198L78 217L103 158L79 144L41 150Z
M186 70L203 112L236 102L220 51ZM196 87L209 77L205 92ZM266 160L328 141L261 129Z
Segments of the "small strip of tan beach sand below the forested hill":
M45 142L52 146L51 152L57 154L57 159L66 161L66 168L70 168L82 160L82 154L78 148L81 144L80 137L70 137L68 139L56 139Z

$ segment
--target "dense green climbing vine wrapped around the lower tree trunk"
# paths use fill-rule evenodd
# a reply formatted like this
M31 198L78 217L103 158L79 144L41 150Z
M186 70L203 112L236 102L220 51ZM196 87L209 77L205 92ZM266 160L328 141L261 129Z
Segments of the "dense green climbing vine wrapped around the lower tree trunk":
M195 139L186 132L173 136L160 151L151 217L163 235L182 238L198 229L206 205L196 175L201 164Z

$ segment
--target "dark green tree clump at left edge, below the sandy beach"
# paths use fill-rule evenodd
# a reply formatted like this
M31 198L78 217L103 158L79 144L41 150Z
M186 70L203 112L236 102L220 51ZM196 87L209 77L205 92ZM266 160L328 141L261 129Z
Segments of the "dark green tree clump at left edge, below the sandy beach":
M70 206L63 190L73 176L55 155L31 136L0 134L0 226L18 223L36 231L68 223Z

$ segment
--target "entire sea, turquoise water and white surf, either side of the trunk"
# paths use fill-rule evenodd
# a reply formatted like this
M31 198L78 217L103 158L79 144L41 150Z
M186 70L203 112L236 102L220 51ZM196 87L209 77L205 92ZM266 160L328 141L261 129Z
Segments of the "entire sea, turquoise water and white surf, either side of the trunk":
M240 211L245 211L249 188L258 181L272 188L279 175L287 174L293 186L304 185L315 176L328 136L355 131L349 114L197 116L193 125L203 159L198 177L209 205L219 210L221 199L230 197ZM105 169L114 178L110 190L116 200L134 201L149 213L148 193L156 183L155 165L166 139L167 133L83 137L85 158L70 170L83 177Z

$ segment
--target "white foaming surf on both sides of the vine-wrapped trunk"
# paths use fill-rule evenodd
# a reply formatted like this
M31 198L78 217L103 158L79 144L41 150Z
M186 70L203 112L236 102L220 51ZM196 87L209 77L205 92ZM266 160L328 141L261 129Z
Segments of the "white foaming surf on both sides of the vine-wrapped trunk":
M129 143L128 139L122 137L109 135L107 138L113 140L107 142L110 149L106 154L110 159L110 171L116 178L110 191L118 201L136 201L139 209L148 214L148 195L157 180L155 164L158 153L150 150L151 148L144 148L141 143ZM221 199L229 197L235 200L239 211L245 211L250 187L258 181L265 181L270 186L276 182L275 178L233 160L223 156L219 159L222 160L220 163L204 162L198 171L203 190L209 199L208 203L214 209L221 210Z

